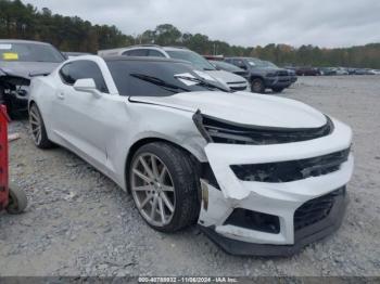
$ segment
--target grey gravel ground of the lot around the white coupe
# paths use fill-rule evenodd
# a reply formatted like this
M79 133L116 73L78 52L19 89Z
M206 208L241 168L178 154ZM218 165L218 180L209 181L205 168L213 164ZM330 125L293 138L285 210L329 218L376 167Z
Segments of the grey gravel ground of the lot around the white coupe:
M341 230L292 258L226 255L197 228L151 230L131 196L63 149L37 150L11 124L12 179L24 215L0 214L0 275L379 275L380 76L303 77L281 94L352 126L355 173Z

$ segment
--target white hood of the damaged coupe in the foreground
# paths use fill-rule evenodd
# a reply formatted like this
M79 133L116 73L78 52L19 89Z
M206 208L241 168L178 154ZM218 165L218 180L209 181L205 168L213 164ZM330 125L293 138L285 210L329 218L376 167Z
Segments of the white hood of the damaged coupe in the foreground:
M326 116L301 102L249 92L187 92L170 96L131 96L131 102L176 107L242 125L318 128Z

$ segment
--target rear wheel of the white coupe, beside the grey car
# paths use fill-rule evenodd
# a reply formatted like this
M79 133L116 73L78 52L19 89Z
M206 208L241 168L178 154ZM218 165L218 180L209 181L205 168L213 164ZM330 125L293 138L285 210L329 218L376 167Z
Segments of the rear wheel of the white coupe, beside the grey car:
M39 149L50 149L54 144L49 140L45 122L36 104L33 104L29 109L29 126L33 141Z

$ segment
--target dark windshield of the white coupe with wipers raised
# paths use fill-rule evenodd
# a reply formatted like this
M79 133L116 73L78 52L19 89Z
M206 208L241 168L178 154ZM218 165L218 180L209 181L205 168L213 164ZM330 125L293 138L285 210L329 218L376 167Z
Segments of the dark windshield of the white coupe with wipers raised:
M109 61L121 95L167 96L180 92L229 91L190 64L166 61Z

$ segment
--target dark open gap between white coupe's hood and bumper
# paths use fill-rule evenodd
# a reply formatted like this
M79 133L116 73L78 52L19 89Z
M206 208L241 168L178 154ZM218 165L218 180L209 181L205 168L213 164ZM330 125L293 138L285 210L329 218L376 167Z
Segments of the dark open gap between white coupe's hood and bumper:
M333 131L331 119L319 128L275 128L245 126L202 115L198 111L193 120L208 143L268 145L300 142L326 137Z

